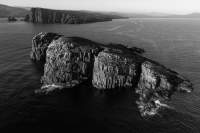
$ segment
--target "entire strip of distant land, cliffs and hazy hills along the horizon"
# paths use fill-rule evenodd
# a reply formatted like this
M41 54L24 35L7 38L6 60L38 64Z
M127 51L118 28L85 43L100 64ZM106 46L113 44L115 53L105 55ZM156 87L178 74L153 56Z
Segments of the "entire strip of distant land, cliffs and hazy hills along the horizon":
M15 7L0 4L0 18L43 24L84 24L121 18L200 18L200 13L178 15L166 13L120 13L76 10L53 10L35 7ZM15 19L12 19L15 18Z

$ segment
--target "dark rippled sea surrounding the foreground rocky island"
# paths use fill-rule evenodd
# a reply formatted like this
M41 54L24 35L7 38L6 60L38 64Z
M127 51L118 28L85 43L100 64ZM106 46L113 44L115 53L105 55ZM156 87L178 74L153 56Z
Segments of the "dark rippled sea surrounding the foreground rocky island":
M36 95L42 68L29 58L31 39L58 32L123 43L188 77L191 94L173 95L153 118L142 118L132 90L99 92L88 85ZM0 19L0 132L200 133L200 19L123 19L83 25L7 23Z

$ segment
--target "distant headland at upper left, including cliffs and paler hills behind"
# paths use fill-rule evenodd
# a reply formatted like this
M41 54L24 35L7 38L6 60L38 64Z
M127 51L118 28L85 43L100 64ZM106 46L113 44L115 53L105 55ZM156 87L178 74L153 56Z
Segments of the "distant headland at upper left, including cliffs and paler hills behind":
M9 22L21 20L42 24L85 24L128 17L105 12L25 8L0 4L0 18L8 18Z

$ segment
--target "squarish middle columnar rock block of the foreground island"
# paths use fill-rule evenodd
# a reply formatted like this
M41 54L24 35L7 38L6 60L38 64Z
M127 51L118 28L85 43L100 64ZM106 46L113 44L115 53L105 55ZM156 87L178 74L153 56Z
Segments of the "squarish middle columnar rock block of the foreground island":
M99 89L133 87L137 74L133 59L103 51L95 57L92 83Z

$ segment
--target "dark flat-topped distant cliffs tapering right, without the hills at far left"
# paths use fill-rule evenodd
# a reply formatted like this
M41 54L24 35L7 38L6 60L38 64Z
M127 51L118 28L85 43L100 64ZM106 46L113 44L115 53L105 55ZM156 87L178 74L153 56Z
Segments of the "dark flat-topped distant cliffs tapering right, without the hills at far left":
M28 18L28 19L27 19ZM89 11L70 11L52 10L45 8L31 8L29 17L26 21L42 24L84 24L93 22L111 21L112 19L124 18L118 15L89 12Z

